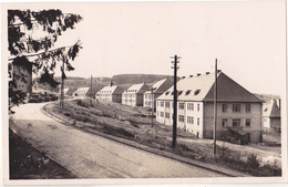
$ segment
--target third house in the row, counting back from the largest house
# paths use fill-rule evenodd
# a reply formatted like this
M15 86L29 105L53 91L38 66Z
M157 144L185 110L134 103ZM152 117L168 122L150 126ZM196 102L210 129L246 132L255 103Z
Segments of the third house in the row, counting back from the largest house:
M122 93L122 104L130 106L143 106L143 94L148 90L145 83L133 84Z

